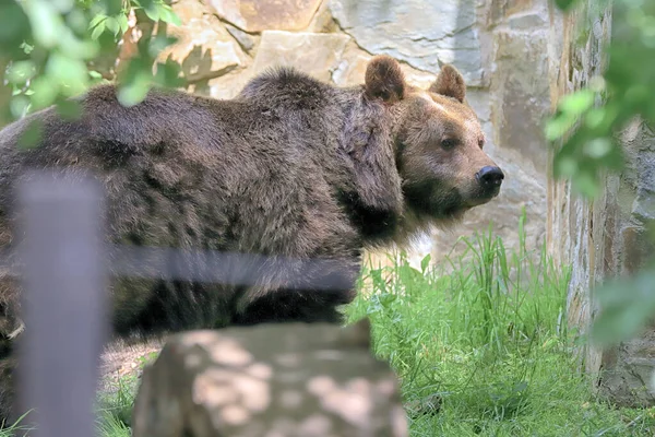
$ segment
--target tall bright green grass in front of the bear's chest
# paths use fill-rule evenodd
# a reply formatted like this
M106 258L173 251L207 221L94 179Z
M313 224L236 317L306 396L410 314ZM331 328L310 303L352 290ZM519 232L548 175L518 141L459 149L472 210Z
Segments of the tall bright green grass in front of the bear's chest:
M523 222L522 222L523 223ZM655 409L612 410L577 371L565 326L568 269L509 252L491 232L450 269L367 267L347 310L401 378L412 436L654 436ZM448 273L446 273L448 272Z

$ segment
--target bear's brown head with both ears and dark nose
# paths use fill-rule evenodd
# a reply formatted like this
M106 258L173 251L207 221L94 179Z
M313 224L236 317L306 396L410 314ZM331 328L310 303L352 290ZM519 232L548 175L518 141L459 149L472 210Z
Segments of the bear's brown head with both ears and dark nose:
M484 151L483 129L454 67L444 66L421 90L405 82L393 58L378 56L368 64L364 87L367 98L392 115L403 196L416 218L458 220L498 196L504 175Z

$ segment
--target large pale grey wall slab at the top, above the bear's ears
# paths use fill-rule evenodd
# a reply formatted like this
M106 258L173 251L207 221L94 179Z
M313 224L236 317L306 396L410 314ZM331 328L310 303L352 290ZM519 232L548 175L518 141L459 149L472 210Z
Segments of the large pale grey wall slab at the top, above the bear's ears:
M390 55L426 72L453 63L468 84L483 85L475 0L330 0L329 4L340 26L365 50Z

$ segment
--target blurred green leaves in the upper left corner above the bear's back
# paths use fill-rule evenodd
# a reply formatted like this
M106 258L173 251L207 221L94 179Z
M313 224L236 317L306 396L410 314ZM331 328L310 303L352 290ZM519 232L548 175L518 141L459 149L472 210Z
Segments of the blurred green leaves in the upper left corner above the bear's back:
M52 104L73 116L67 98L106 80L117 81L124 105L154 84L182 85L179 64L155 61L174 43L167 23L179 19L163 0L1 2L0 126Z

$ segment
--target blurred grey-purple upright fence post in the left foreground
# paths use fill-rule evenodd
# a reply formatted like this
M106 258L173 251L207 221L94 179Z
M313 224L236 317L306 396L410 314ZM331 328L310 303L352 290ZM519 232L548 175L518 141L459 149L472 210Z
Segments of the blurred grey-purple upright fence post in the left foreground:
M20 200L21 406L39 437L91 437L107 333L104 196L92 178L48 173L31 174Z

